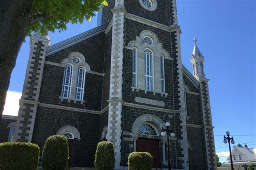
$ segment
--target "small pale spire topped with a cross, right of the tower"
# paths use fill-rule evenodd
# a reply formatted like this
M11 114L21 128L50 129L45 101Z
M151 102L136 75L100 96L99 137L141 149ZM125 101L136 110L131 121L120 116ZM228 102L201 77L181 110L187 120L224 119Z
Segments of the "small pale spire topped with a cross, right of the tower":
M204 74L204 56L200 52L199 48L197 47L197 38L193 38L194 41L194 49L190 58L190 62L193 66L193 75L196 79L203 78L205 79Z

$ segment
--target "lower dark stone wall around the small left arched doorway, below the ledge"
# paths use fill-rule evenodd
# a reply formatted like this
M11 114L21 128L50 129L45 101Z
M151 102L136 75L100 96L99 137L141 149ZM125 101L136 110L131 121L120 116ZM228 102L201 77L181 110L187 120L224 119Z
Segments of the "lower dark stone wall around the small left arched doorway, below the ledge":
M99 142L100 115L38 107L32 143L43 151L45 140L62 128L70 125L80 132L81 140L75 140L72 166L93 167L94 154Z

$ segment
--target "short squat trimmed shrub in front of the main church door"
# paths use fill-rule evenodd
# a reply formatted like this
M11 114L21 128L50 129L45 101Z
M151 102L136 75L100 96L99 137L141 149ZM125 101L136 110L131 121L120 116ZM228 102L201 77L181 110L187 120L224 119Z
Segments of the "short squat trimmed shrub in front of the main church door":
M151 170L152 156L148 152L132 152L128 157L129 170Z

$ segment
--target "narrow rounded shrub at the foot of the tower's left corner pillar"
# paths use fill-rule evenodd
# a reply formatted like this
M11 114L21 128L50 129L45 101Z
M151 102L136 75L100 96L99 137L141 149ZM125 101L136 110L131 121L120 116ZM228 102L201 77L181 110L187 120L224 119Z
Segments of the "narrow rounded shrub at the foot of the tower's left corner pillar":
M95 167L99 170L112 170L115 162L113 144L109 141L98 143L95 153Z

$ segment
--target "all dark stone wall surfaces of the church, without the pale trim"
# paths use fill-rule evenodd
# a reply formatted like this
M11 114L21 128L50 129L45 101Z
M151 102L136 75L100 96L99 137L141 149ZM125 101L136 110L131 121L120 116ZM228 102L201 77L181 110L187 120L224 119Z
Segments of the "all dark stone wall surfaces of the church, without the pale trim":
M112 19L112 11L114 8L114 1L107 1L109 6L105 6L103 9L102 23L110 22ZM136 15L142 18L150 19L153 22L161 25L174 25L176 9L175 1L157 0L158 8L156 11L149 12L142 8L138 1L127 0L124 5L128 13ZM132 51L126 48L130 41L136 40L136 36L144 30L150 30L155 33L159 39L159 42L163 44L163 48L170 54L171 60L165 59L164 61L164 73L165 73L165 93L154 93L139 89L133 90L132 86ZM102 137L102 131L104 126L108 125L109 121L109 94L110 94L110 73L111 73L111 52L112 52L112 32L114 29L110 29L106 34L104 32L87 38L83 41L77 42L75 45L70 45L64 49L60 49L49 56L45 57L44 72L42 75L42 84L39 93L39 105L36 111L35 126L33 128L32 143L37 143L43 150L43 145L49 136L56 134L57 131L63 126L69 125L76 128L80 133L81 140L75 138L72 167L93 167L94 154L96 151L97 143ZM154 115L161 119L163 122L170 121L174 133L176 134L176 140L171 140L171 161L172 167L176 169L183 169L187 160L184 160L184 148L181 146L183 139L183 122L181 118L183 113L180 111L180 83L189 88L186 94L187 98L187 119L184 124L187 125L187 140L190 144L188 148L188 161L191 169L205 169L206 164L206 148L205 148L205 136L204 136L204 121L202 107L206 107L207 102L202 104L200 86L203 87L204 98L208 97L207 84L204 82L200 86L196 86L191 77L187 77L185 74L179 75L179 69L181 69L178 62L178 30L165 31L151 25L143 24L132 19L125 18L124 22L124 46L123 49L123 84L122 84L122 102L137 104L137 107L131 105L122 106L122 136L121 138L121 162L120 166L127 166L127 157L134 151L134 143L132 136L127 133L132 131L134 121L142 115ZM39 45L39 42L38 42ZM39 47L38 47L39 48ZM85 90L84 90L84 102L75 101L72 99L61 98L64 67L60 66L62 60L68 58L72 52L79 52L85 56L85 62L90 66L91 73L85 75ZM37 54L35 54L37 55ZM38 54L39 55L39 54ZM41 54L40 54L41 55ZM40 59L40 58L38 58ZM33 62L36 66L40 63ZM30 74L36 75L37 73L31 72ZM182 80L179 77L183 77ZM35 78L37 78L35 76ZM37 80L31 78L31 82L37 83ZM32 90L38 90L33 89ZM31 100L34 91L28 93L27 100ZM134 100L135 97L147 98L150 100L156 100L164 102L164 107L159 105L138 103ZM31 124L31 112L33 111L34 104L23 103L25 109L20 109L25 112L21 117L24 118L20 123L23 124L22 130L24 134L20 134L22 137L20 141L25 141L26 127ZM138 107L144 107L140 108ZM154 107L155 109L147 109L145 107ZM165 111L164 111L165 110ZM171 111L166 111L171 110ZM210 118L210 108L207 108L206 113ZM209 122L207 125L211 125ZM161 128L161 127L160 127ZM23 132L23 131L22 131ZM208 134L212 135L212 131L209 130ZM213 142L211 140L211 142ZM211 144L209 144L211 145ZM211 145L213 146L213 145ZM210 147L211 147L210 146ZM160 155L162 157L162 149L160 147ZM167 152L167 151L166 151ZM210 151L210 154L214 155L214 152ZM161 158L166 160L166 158ZM214 164L213 160L211 164Z

